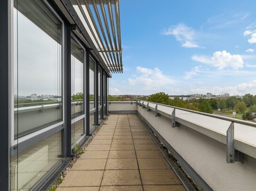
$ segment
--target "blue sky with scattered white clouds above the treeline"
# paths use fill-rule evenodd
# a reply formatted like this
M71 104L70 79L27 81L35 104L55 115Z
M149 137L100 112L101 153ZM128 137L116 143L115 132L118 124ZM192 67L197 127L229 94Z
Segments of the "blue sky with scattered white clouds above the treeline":
M120 1L110 94L256 94L255 0Z

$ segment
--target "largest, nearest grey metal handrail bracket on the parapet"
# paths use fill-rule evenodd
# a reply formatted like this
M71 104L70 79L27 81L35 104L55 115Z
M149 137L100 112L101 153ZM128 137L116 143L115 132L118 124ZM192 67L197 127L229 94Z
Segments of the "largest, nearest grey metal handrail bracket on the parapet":
M235 150L234 144L234 122L231 122L227 130L227 163L238 161L244 163L244 153Z

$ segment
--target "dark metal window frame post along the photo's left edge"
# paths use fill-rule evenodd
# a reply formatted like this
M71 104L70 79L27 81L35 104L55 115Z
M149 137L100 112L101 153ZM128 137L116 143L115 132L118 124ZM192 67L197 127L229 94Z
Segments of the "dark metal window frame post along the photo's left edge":
M0 134L0 188L3 191L9 190L9 177L10 177L10 130L11 130L11 1L2 0L0 6L0 121L1 121L1 134ZM12 114L13 115L13 114Z

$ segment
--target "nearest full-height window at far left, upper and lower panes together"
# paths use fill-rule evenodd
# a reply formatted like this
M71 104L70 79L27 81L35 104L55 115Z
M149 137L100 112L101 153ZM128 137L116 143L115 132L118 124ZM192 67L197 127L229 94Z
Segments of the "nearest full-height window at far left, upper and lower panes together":
M63 22L44 0L14 0L12 18L10 187L25 191L62 160Z

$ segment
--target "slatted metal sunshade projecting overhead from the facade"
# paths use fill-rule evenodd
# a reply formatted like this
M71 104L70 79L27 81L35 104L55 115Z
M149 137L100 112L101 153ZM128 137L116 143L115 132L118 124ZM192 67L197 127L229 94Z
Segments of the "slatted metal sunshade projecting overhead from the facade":
M119 0L72 0L113 73L123 73Z

